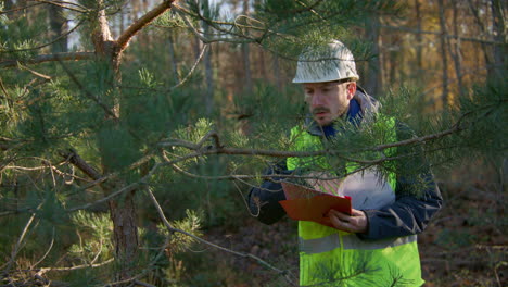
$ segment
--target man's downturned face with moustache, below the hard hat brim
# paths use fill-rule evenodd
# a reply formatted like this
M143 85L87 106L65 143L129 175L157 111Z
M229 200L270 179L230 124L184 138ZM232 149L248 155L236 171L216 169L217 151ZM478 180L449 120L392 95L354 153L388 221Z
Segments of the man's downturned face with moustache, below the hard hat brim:
M326 126L344 114L356 91L356 83L305 83L305 101L314 120Z

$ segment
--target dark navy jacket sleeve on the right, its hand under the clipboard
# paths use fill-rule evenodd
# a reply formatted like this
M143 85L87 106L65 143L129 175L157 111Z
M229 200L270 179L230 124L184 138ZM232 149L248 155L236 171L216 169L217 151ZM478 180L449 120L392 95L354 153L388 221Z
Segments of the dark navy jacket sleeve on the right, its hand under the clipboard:
M410 138L412 133L397 124L397 138ZM422 148L399 147L397 154L416 154L397 161L395 202L379 210L364 210L368 219L368 230L357 234L361 239L382 239L419 234L441 209L443 198L434 182Z

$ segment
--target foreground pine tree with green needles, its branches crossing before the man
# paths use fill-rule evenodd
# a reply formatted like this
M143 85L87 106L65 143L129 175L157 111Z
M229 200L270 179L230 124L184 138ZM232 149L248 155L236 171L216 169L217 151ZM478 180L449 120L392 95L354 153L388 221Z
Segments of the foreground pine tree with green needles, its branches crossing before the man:
M503 76L475 83L455 107L434 114L421 109L427 98L418 87L390 90L382 112L410 126L412 138L390 142L376 126L358 134L344 125L350 137L303 152L289 151L283 132L305 116L293 87L258 83L232 101L218 85L205 92L220 71L211 70L211 59L204 68L199 63L207 52L215 57L211 48L219 43L261 48L290 70L304 47L339 38L367 61L376 54L356 32L366 18L399 15L405 8L397 1L267 0L249 15L224 15L194 0L153 1L142 12L129 2L0 4L2 284L179 286L177 254L205 242L201 221L224 224L236 209L229 183L256 185L267 178L263 169L287 157L347 158L383 174L393 162L415 173L410 159L420 155L435 169L470 157L497 166L506 159ZM127 16L129 9L138 13ZM119 27L125 18L136 20ZM67 29L40 25L52 20ZM157 41L168 35L170 43ZM74 47L56 46L65 42ZM167 45L175 48L170 57ZM191 61L169 64L176 57ZM505 64L497 68L493 75L505 74ZM393 148L405 153L391 158ZM275 262L217 248L294 282Z

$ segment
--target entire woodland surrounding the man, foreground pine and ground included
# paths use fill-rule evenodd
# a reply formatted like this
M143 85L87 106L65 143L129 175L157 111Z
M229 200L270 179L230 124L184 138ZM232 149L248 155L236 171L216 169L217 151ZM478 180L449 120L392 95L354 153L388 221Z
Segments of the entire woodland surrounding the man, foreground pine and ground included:
M430 286L506 280L504 1L0 8L3 285L295 284L294 224L252 223L244 196L305 116L297 54L330 38L384 112L428 136L410 145L448 202L420 237Z

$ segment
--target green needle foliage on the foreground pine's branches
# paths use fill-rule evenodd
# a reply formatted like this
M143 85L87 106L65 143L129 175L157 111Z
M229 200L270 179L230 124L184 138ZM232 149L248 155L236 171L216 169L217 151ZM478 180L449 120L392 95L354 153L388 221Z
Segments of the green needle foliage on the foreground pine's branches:
M228 53L239 51L234 42L253 41L265 51L279 55L281 61L290 60L281 63L282 70L288 71L294 67L291 60L295 60L304 47L328 42L332 38L345 42L357 60L369 59L372 57L371 43L358 37L358 25L361 26L372 14L397 16L403 10L401 1L388 0L254 2L262 7L257 7L249 17L223 17L218 5L205 7L204 1L180 1L179 5L191 11L189 21L198 30L206 30L206 37L223 37L224 41L232 42L227 43L228 52L223 51L226 45L214 42L211 49L214 53L227 54L227 61L230 61L236 58ZM106 8L110 23L114 23L116 15L122 21L129 18L123 14L123 9L132 8L123 0L103 1L102 7L92 0L74 4L69 5L79 10L85 8L84 11L65 10L64 16L68 23L82 24L78 27L79 39L76 36L72 39L78 39L76 49L84 51L96 49L90 36L99 27L98 9ZM142 254L129 262L129 266L136 267L140 274L150 274L147 275L149 279L153 276L156 286L227 285L229 275L217 272L220 264L213 266L214 263L209 263L215 262L215 258L201 253L192 257L193 238L180 233L168 234L163 225L157 225L161 221L158 214L152 204L147 203L142 188L148 185L153 189L175 228L203 236L206 229L242 225L242 216L247 214L241 195L244 190L236 188L246 189L249 185L259 184L261 171L279 159L204 155L200 152L219 148L217 145L224 148L289 150L294 144L289 132L305 121L307 113L300 88L276 88L263 79L253 90L233 92L231 102L225 97L230 93L230 84L219 80L224 72L217 70L214 71L214 80L228 87L214 91L216 109L209 115L203 104L202 64L193 70L183 85L177 86L181 76L193 68L196 55L188 49L194 48L194 36L189 37L190 29L181 14L175 11L165 13L149 29L138 34L137 39L141 40L130 42L118 71L104 59L27 64L34 57L47 53L50 46L45 45L54 38L48 32L48 25L38 25L48 23L46 7L34 8L35 12L28 16L16 16L21 14L15 13L0 15L1 61L25 62L1 71L0 213L10 215L0 219L0 224L8 230L0 236L0 258L10 258L13 245L35 213L26 244L21 246L22 252L16 261L20 267L33 267L54 241L41 265L87 267L58 275L49 273L49 278L67 280L73 286L111 283L115 267L120 263L88 267L115 257L117 246L113 245L112 220L105 213L106 203L92 204L86 211L71 211L71 208L93 203L104 199L109 192L139 184L151 167L158 166L134 191L138 224L143 226L138 229L142 247L138 251ZM0 10L3 9L4 4L0 3ZM233 22L226 23L228 20ZM117 36L117 32L124 28L112 27L112 32ZM167 49L164 42L169 34L176 47L174 55L164 50ZM217 65L220 64L221 68L227 62L223 60L217 58ZM177 75L169 71L169 63L176 65ZM283 76L281 79L284 80ZM385 128L365 125L363 133L357 133L351 123L340 122L336 127L341 135L326 146L335 152L327 159L330 163L328 170L344 175L344 161L348 159L356 161L358 169L369 165L366 162L379 161L376 165L384 175L401 166L411 175L426 164L420 159L422 155L427 155L434 167L453 164L449 159L458 162L467 157L487 158L499 164L499 160L506 158L507 149L504 127L508 120L506 90L506 84L501 82L479 85L469 97L460 98L457 108L437 114L428 111L431 109L423 109L422 113L421 107L429 105L426 102L428 97L417 88L403 87L391 91L383 98L381 113L407 124L414 132L408 138L436 134L457 124L462 129L431 141L398 147L395 152L394 149L373 149L381 144L395 142ZM113 113L118 118L113 118ZM211 132L217 132L219 142ZM204 139L206 136L209 137ZM93 179L75 167L68 157L62 157L69 149L101 176L112 173L114 176L102 186L93 185ZM401 158L380 161L395 153ZM152 157L151 160L142 166L131 167L145 155ZM166 160L175 160L176 163L169 165ZM241 183L239 187L229 180L236 175L246 178L234 179L236 184ZM427 179L416 178L420 183L414 185L415 189L426 187ZM114 190L110 190L112 186ZM488 215L495 212L487 211ZM474 225L484 223L478 214L472 215ZM505 225L501 221L500 226ZM161 248L168 236L169 251ZM481 239L447 230L437 242L462 247ZM193 263L204 267L196 269ZM232 267L224 270L233 273ZM279 282L272 285L278 286Z

